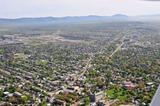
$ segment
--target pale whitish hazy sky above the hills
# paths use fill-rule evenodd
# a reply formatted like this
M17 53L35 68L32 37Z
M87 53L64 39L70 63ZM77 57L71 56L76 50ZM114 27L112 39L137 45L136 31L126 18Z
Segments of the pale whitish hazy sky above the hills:
M0 18L160 14L159 0L0 0Z

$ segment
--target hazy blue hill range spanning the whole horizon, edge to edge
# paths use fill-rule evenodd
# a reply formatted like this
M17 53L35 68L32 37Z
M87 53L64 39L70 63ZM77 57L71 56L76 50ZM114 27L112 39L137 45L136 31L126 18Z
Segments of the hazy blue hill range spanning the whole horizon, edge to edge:
M45 24L59 24L59 23L76 23L88 21L151 21L160 20L160 15L146 15L146 16L127 16L123 14L115 14L113 16L67 16L67 17L39 17L39 18L16 18L5 19L0 18L1 25L45 25Z

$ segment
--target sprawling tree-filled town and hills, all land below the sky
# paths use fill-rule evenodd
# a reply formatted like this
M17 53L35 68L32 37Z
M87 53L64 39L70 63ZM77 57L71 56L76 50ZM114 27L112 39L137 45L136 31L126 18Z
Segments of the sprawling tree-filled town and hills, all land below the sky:
M159 106L159 84L160 15L0 18L0 106Z

